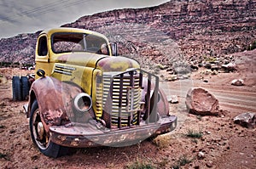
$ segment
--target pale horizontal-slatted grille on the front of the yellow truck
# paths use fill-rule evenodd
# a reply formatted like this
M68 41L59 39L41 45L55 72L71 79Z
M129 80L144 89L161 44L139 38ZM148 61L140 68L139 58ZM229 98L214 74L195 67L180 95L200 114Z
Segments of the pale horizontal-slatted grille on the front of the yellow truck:
M115 76L105 73L102 77L102 107L109 114L111 126L137 124L141 100L139 75L129 71Z

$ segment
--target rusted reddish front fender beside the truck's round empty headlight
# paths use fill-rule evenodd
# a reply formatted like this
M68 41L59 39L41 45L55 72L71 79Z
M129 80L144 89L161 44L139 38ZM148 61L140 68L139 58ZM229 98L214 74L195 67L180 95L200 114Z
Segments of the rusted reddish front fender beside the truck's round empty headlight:
M61 82L54 77L39 78L32 83L27 117L30 116L33 101L37 99L46 132L50 126L64 125L73 115L72 101L78 93L81 93L79 87Z

